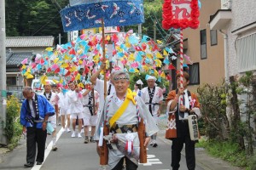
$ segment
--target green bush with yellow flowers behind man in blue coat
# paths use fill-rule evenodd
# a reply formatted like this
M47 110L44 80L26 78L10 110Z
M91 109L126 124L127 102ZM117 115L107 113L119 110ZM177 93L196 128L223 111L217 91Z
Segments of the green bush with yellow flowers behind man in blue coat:
M19 100L15 96L10 96L7 100L4 134L10 150L14 149L18 144L20 134L22 133L22 127L20 126L20 106Z

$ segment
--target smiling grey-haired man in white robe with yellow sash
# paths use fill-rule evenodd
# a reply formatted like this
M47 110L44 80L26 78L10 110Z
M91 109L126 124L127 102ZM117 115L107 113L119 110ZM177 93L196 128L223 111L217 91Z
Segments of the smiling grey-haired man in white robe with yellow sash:
M150 136L158 131L158 127L143 100L128 88L129 79L129 74L125 71L115 72L113 80L116 94L107 97L104 111L96 127L96 139L99 140L99 144L102 143L103 122L106 121L110 128L110 133L105 138L109 138L109 136L111 138L108 142L108 166L112 170L122 169L124 159L126 170L137 169L140 154L137 125L142 118L146 129L144 146L148 145ZM118 114L119 118L114 119L113 117L117 115L116 111L119 111L119 108L123 108L124 105L126 107L121 111L121 116ZM125 147L126 145L128 147Z

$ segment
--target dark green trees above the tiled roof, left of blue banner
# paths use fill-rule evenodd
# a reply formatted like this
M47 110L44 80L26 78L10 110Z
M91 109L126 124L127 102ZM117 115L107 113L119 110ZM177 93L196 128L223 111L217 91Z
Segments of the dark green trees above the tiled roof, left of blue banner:
M65 35L61 24L61 8L68 0L8 0L5 1L6 34L8 37Z

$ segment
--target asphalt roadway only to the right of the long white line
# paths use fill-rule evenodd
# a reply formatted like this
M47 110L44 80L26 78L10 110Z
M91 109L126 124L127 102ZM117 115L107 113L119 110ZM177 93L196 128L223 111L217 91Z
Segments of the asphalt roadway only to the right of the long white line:
M159 146L153 148L148 146L148 163L140 164L141 170L167 170L171 164L171 146L161 139L158 140ZM70 133L62 133L57 144L58 151L51 151L43 166L45 170L71 170L71 169L98 169L99 157L96 154L96 144L84 144L84 139L71 138ZM187 169L185 158L182 156L180 169ZM201 170L201 167L197 167Z

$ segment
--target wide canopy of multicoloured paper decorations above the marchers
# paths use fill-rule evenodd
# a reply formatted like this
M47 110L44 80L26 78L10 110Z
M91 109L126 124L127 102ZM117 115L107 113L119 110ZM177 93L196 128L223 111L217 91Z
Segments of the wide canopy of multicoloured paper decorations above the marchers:
M161 54L158 48L160 42L156 43L148 36L140 38L133 31L106 35L105 39L106 44L113 46L112 54L107 53L106 59L114 69L124 68L133 73L146 71L159 77L159 81L166 78L163 71L156 71L156 67L162 67L163 63L170 64L168 55L174 53L172 48L163 49ZM60 81L55 82L65 88L71 81L88 82L86 75L93 70L94 65L101 65L102 59L102 34L89 37L81 35L75 42L46 48L42 55L37 54L35 62L30 65L26 66L25 60L22 73L44 71L55 74L61 77ZM79 83L81 88L83 83Z

